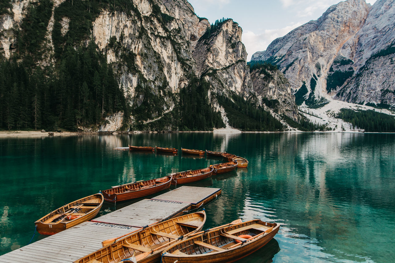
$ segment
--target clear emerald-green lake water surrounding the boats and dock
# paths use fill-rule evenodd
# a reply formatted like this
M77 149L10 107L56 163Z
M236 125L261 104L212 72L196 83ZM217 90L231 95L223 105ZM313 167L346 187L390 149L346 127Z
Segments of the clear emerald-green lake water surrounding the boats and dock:
M248 169L191 184L222 188L205 206L205 228L239 217L282 224L275 240L243 262L391 262L395 256L395 135L342 133L1 138L0 254L28 244L34 221L64 203L221 162L113 150L128 144L227 150L249 160ZM105 203L101 214L114 209Z

